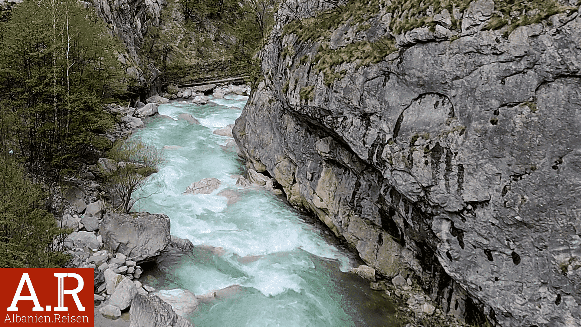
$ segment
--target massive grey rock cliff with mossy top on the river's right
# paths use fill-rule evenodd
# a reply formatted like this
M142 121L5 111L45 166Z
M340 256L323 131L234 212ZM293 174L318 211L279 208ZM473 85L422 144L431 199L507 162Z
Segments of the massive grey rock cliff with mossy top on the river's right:
M248 166L444 312L581 325L578 3L333 3L279 7Z

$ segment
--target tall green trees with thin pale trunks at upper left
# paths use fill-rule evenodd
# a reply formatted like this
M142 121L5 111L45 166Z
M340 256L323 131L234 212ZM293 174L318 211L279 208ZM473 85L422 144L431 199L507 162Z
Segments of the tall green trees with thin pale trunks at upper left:
M119 42L73 0L27 0L11 15L0 23L2 145L31 172L60 170L112 127L100 102L124 91Z

